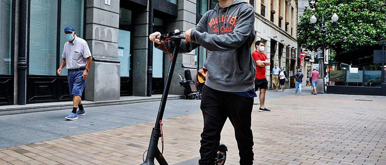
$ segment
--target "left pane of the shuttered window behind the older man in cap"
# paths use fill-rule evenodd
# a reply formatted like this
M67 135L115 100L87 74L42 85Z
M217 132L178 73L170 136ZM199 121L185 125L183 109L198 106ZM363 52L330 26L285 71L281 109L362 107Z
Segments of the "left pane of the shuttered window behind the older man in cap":
M30 0L30 75L56 75L57 21L57 0Z

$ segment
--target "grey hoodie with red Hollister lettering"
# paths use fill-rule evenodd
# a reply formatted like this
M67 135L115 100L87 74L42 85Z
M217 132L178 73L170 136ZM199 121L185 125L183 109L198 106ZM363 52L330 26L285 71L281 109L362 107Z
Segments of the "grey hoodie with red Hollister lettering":
M224 8L217 4L192 29L191 42L181 42L179 53L191 52L201 45L208 50L205 85L218 91L250 91L256 74L250 49L255 38L254 21L254 8L244 0L235 0ZM173 52L174 43L165 44ZM164 43L154 45L165 52Z

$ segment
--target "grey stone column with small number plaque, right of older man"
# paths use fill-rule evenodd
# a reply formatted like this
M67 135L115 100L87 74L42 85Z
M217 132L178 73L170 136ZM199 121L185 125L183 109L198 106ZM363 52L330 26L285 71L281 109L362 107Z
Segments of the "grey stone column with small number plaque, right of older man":
M89 101L119 99L119 0L112 0L110 5L105 5L104 0L87 0L86 6L85 40L93 62L86 80L85 98Z

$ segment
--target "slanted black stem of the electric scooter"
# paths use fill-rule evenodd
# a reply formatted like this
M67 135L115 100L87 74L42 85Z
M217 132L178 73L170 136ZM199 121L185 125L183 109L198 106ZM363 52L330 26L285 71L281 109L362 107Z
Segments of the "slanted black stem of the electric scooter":
M169 88L173 77L174 66L176 66L178 49L179 49L179 44L181 43L181 39L176 39L173 41L174 41L173 60L170 63L169 73L168 73L168 76L166 77L165 88L162 93L161 103L159 104L156 125L154 126L151 132L151 138L150 138L149 148L147 150L146 160L141 165L154 165L154 158L157 159L160 165L168 165L165 158L161 155L161 152L159 152L158 140L159 140L159 137L161 137L160 121L162 120L164 115L166 100L168 99L168 95L169 95Z

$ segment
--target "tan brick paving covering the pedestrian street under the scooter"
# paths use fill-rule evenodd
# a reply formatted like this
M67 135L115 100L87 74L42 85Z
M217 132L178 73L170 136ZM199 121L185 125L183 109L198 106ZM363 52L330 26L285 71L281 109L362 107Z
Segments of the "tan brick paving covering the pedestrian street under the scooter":
M254 164L386 164L386 97L305 93L267 100L271 113L254 107ZM199 156L201 113L163 123L169 164ZM154 122L146 122L3 148L0 165L139 165L153 126ZM229 150L226 164L239 164L229 121L221 141Z

